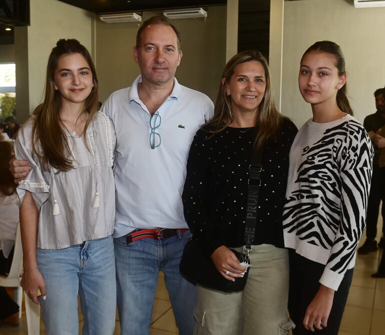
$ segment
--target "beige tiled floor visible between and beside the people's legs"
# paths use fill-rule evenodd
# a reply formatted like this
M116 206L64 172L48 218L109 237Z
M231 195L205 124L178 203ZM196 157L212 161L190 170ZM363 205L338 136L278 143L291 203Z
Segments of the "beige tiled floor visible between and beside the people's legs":
M361 239L361 244L364 237ZM385 279L373 279L370 274L376 272L380 252L357 256L353 282L342 319L339 335L384 335L385 334ZM82 316L79 312L79 330L81 334ZM114 334L119 334L119 322L116 319ZM18 327L0 325L0 335L25 335L25 315ZM45 334L41 322L40 334ZM150 335L177 334L175 320L162 274L152 312ZM268 334L266 334L268 335Z

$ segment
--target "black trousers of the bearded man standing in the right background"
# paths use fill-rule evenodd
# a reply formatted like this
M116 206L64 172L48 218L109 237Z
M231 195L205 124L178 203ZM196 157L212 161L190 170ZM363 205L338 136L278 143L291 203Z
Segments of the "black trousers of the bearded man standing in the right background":
M380 168L378 163L373 161L366 215L366 238L369 240L374 240L377 235L378 211L381 200L382 233L385 235L385 167Z

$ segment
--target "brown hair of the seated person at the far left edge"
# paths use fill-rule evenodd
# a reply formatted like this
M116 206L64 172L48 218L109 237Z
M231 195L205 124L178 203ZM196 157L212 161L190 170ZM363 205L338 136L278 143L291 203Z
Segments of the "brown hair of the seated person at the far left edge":
M0 195L12 195L16 190L13 176L9 171L12 146L8 141L0 141Z

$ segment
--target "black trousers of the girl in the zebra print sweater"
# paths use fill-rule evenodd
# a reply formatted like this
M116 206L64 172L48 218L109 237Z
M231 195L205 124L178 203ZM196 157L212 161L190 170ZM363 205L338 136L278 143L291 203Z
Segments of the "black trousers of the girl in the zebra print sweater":
M327 327L314 333L307 331L302 324L306 309L319 289L319 278L324 270L324 265L310 261L289 251L290 287L288 299L288 311L291 320L295 324L293 335L322 334L338 335L343 311L345 308L353 269L347 270L338 290L334 293L333 305L327 320Z

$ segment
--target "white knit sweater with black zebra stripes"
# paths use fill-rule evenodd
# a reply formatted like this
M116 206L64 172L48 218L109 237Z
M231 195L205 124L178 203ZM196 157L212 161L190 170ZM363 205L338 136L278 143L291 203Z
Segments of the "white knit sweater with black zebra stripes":
M290 149L283 208L285 247L324 264L319 283L337 290L365 228L373 148L350 115L308 120Z

